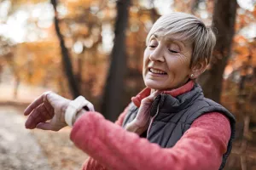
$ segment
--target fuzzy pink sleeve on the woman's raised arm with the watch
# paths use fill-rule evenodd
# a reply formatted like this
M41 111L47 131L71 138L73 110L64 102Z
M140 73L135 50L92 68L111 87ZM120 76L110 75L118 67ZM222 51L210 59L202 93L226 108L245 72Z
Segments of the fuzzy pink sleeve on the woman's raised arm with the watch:
M71 139L108 169L215 170L227 149L230 122L220 113L203 115L174 147L164 149L88 112L74 124Z

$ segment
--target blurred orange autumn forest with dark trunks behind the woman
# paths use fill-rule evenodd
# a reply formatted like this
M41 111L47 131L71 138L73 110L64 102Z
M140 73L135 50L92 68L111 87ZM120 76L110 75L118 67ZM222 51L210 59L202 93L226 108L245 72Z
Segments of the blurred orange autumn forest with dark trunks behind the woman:
M144 88L148 31L172 11L217 32L199 82L236 115L225 169L256 169L255 0L0 0L0 101L30 102L45 90L83 95L114 121Z

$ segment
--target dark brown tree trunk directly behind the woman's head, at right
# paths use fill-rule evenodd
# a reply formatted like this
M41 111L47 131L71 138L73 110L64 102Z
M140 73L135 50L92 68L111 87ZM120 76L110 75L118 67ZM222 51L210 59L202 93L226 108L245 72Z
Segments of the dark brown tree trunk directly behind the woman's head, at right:
M217 29L217 43L213 51L210 69L201 75L199 82L207 98L220 101L224 68L230 58L230 48L235 33L235 0L215 0L212 27Z

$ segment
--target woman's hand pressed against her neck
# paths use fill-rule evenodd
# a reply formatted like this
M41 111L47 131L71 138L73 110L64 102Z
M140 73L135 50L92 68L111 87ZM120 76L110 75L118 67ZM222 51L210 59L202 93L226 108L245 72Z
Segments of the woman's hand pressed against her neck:
M150 122L150 108L154 98L160 94L159 90L154 91L147 98L144 98L141 102L141 106L137 112L135 119L128 123L125 129L129 132L134 132L137 134L142 134L145 132L149 126Z

